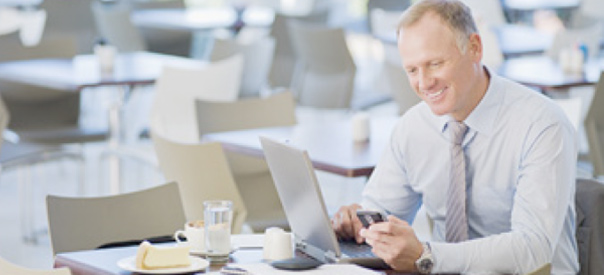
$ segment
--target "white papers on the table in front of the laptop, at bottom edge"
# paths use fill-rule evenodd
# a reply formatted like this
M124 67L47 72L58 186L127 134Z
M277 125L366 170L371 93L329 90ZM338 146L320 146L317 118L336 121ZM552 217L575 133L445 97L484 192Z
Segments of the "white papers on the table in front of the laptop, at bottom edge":
M247 270L252 275L280 275L280 274L300 274L299 271L287 271L275 269L266 263L255 263L255 264L230 264L229 266L236 266ZM315 269L305 270L304 274L315 274L315 275L375 275L380 274L371 269L363 268L353 264L324 264Z

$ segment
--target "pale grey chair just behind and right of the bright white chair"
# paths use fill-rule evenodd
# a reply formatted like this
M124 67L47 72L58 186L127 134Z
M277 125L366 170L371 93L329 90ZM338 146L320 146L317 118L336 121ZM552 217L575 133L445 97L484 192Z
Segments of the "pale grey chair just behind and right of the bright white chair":
M274 52L275 39L271 37L261 37L247 44L232 39L215 39L210 60L218 61L242 54L243 73L239 97L258 97L268 84Z

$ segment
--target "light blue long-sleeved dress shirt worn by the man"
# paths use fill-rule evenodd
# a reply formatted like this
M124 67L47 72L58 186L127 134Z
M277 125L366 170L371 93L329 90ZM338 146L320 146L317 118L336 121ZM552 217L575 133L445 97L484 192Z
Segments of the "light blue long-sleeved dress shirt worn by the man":
M433 272L552 274L579 270L575 240L575 130L550 99L491 73L464 121L470 240L446 243L450 141L424 102L402 116L363 191L364 208L409 222L424 204L434 220Z

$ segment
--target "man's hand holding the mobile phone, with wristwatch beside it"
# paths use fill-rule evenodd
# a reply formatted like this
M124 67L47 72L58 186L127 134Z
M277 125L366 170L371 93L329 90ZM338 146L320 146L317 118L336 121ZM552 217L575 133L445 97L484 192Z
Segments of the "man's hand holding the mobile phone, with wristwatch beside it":
M423 247L407 222L390 215L387 222L373 224L360 234L373 247L373 254L394 270L417 271L415 261L421 256Z

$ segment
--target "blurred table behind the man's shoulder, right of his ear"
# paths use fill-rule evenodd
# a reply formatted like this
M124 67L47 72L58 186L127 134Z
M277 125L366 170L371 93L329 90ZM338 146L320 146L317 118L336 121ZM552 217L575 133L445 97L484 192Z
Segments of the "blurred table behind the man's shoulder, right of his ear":
M586 62L581 73L569 73L564 72L547 56L531 56L506 60L498 72L504 77L542 91L556 91L594 85L600 79L603 69L602 57Z

